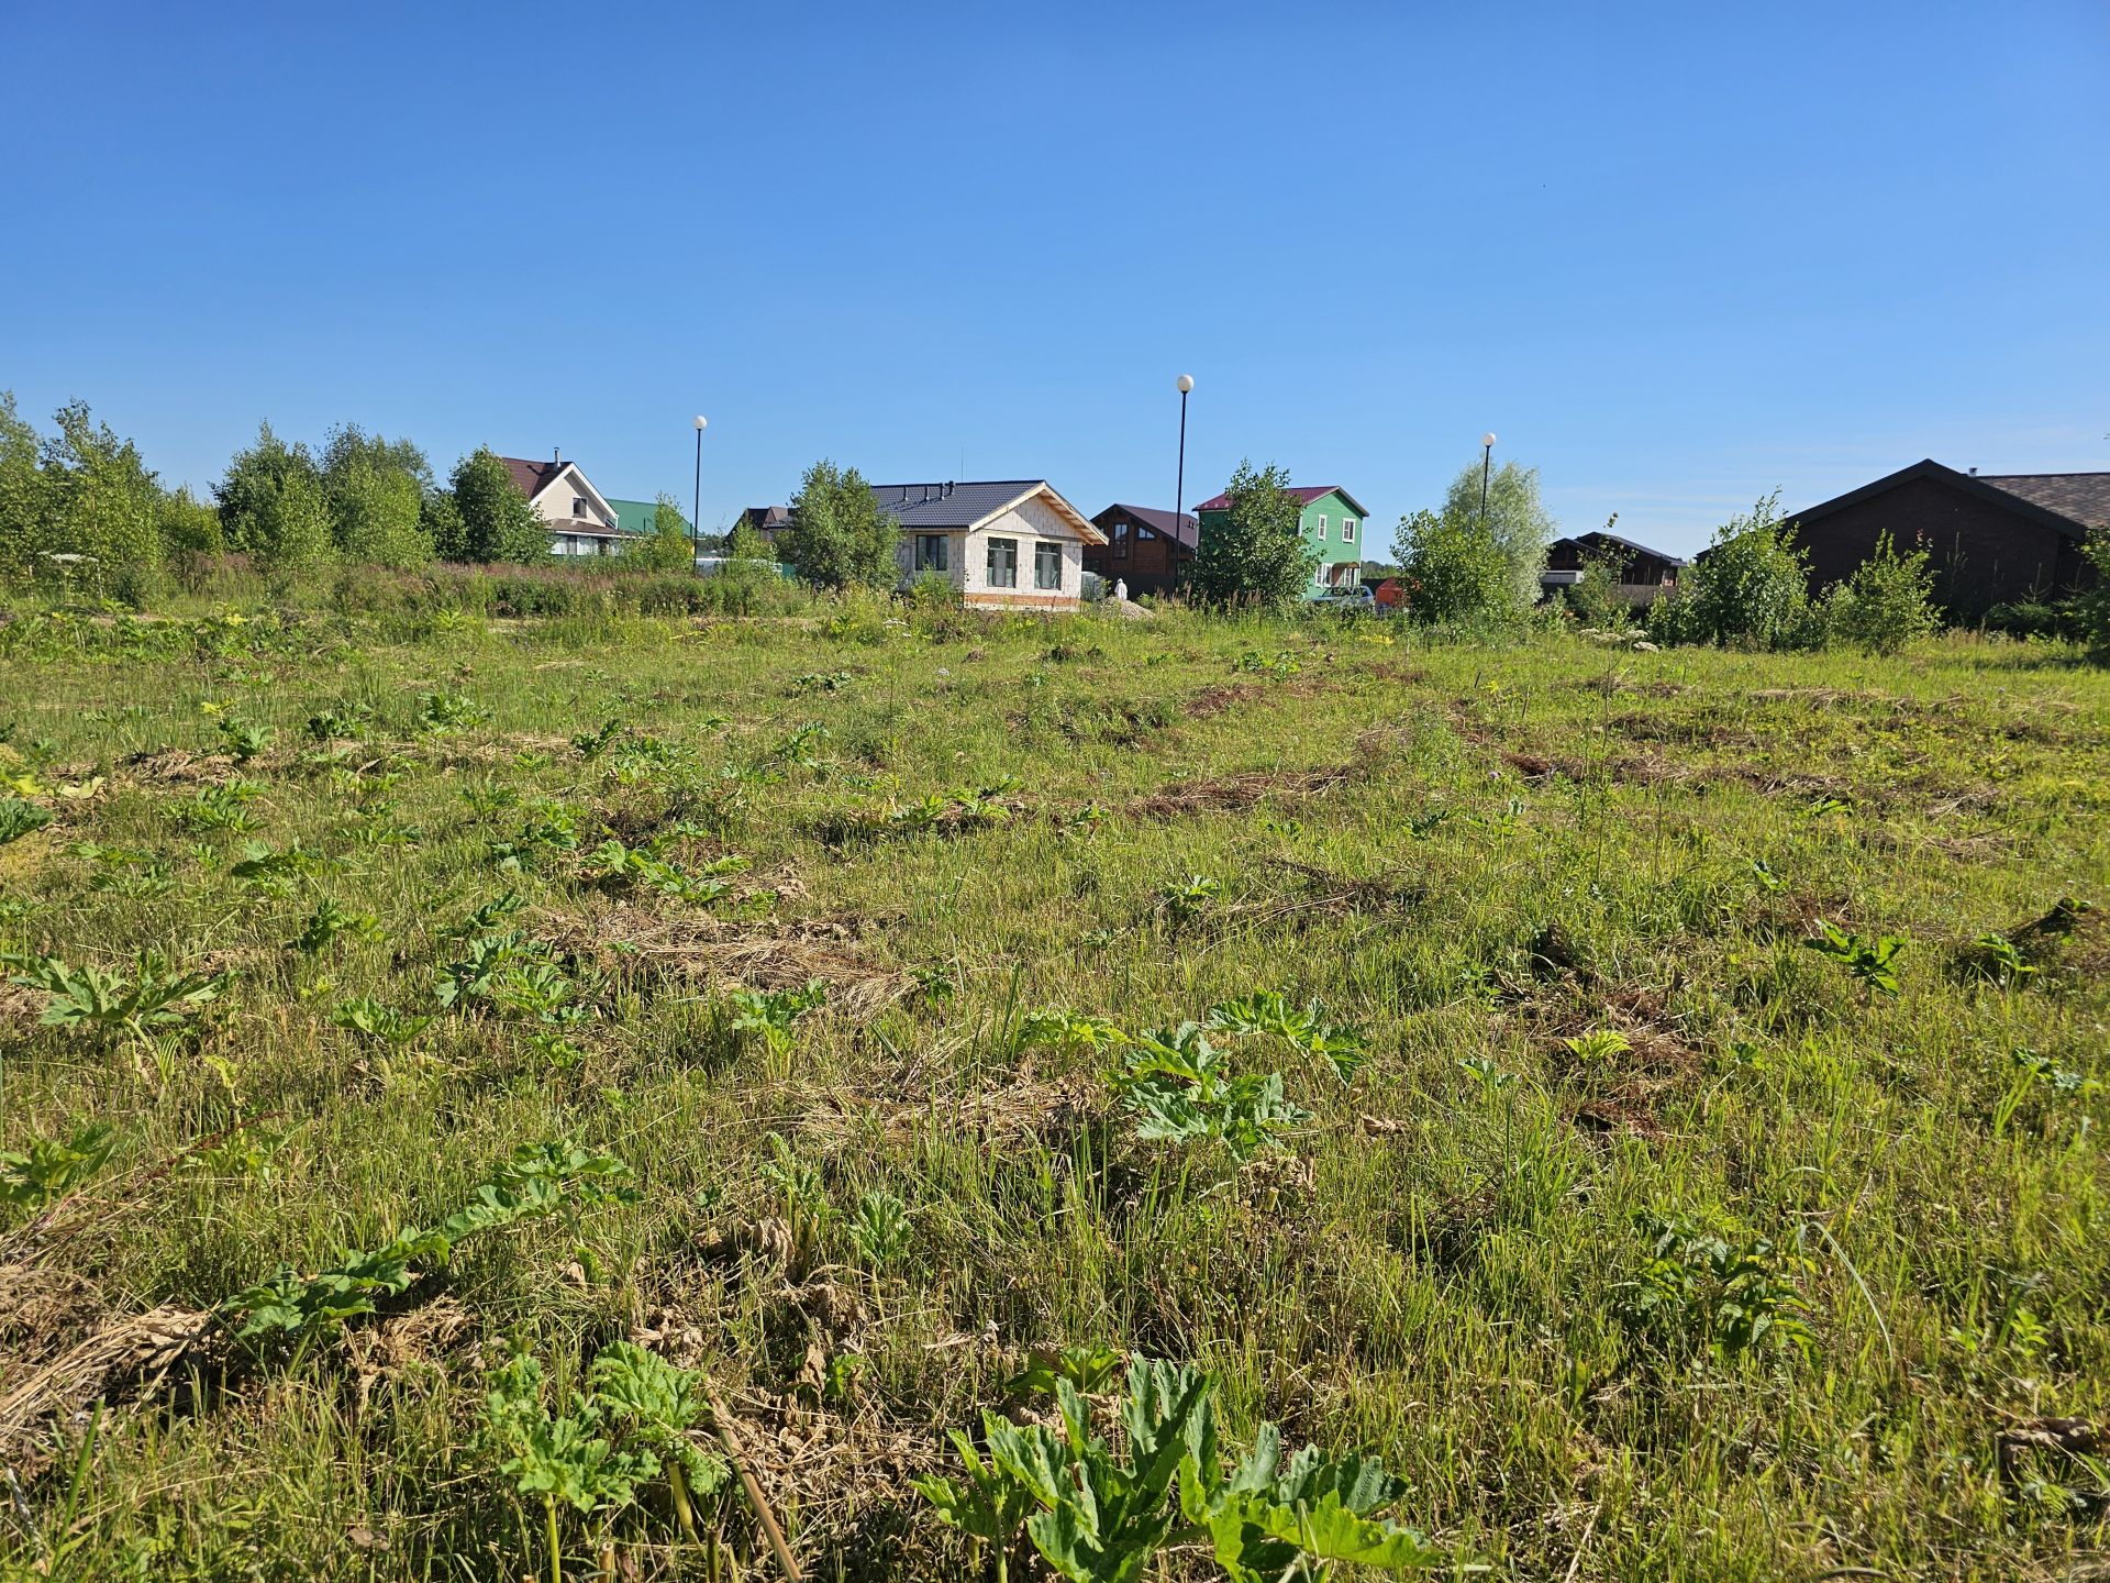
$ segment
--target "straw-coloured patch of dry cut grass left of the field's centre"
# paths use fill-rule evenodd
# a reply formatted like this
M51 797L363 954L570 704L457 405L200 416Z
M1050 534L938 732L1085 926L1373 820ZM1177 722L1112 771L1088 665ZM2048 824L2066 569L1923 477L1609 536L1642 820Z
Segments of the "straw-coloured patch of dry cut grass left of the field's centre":
M880 967L859 950L869 922L855 916L753 920L654 914L618 903L597 914L557 914L546 939L576 960L595 960L610 971L641 965L669 977L751 990L795 990L821 979L829 986L829 1007L869 1017L916 986L907 973Z

